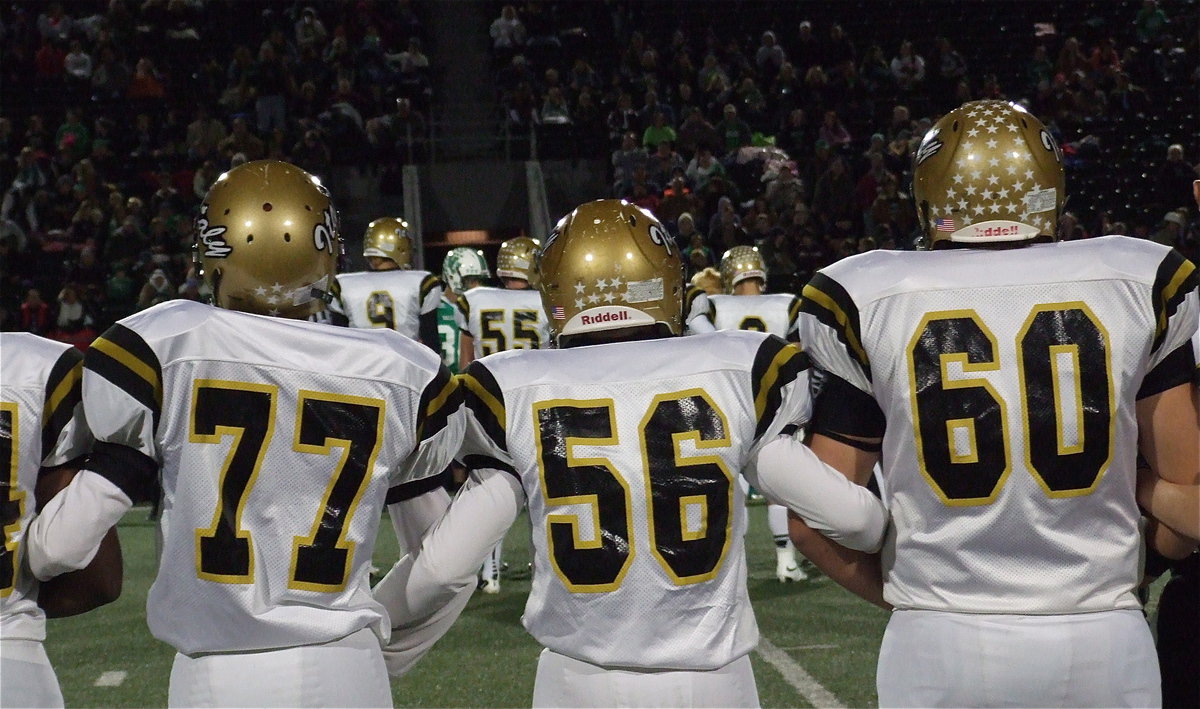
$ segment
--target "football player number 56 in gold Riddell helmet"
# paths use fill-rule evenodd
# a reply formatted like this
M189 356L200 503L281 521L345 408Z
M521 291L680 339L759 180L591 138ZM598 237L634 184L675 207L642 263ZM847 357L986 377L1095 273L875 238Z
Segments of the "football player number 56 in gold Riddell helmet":
M798 347L676 337L683 264L649 212L584 204L539 263L558 349L493 354L461 375L472 480L379 597L400 618L436 607L528 505L523 623L546 647L535 707L757 705L734 479L860 549L880 543L883 505L780 435L808 419Z

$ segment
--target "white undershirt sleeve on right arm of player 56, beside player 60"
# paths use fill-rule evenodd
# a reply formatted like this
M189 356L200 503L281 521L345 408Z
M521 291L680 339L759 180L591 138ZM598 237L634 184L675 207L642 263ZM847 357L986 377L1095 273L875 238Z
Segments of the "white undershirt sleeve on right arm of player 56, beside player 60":
M764 445L745 475L768 500L844 547L874 553L883 545L888 528L883 503L794 438L784 435Z

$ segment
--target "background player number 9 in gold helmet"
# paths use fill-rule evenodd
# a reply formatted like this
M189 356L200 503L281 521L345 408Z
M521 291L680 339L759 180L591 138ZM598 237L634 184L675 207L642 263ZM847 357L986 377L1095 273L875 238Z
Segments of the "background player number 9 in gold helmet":
M388 328L440 352L442 282L413 269L408 222L383 217L367 224L362 256L370 271L337 275L329 304L332 320L344 318L352 328Z

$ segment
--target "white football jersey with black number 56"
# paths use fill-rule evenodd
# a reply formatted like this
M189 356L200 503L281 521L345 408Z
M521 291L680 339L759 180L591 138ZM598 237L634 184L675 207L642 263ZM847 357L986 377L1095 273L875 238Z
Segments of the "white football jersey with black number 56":
M710 332L510 352L461 379L461 459L516 475L528 503L530 635L602 666L713 669L754 649L736 479L808 420L797 346Z

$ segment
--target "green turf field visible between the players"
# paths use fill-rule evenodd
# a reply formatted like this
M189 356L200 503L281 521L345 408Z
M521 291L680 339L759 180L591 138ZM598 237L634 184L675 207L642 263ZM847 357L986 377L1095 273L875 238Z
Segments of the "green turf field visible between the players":
M766 507L749 511L750 596L766 641L752 656L762 704L876 705L875 659L887 614L826 578L776 582ZM523 519L505 543L505 560L514 570L528 563L529 531ZM390 524L382 529L376 558L386 567L396 558L396 541ZM121 599L86 615L48 624L46 649L67 707L167 703L174 651L150 637L145 625L145 596L156 567L155 527L145 511L134 511L120 534L125 552ZM528 581L505 581L499 595L475 594L438 645L412 673L392 683L396 705L528 707L540 650L521 627L528 590ZM821 689L828 693L821 695ZM810 702L805 695L816 699Z

